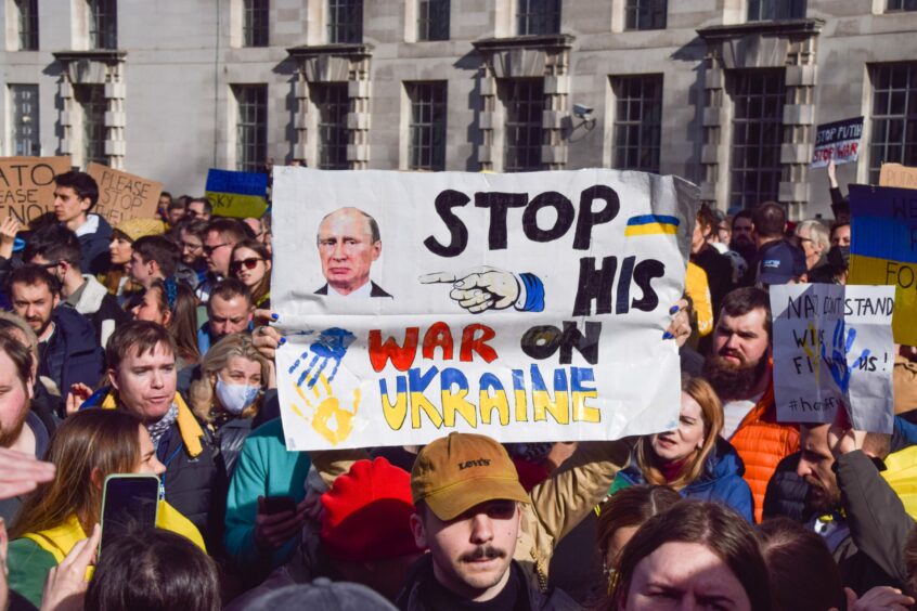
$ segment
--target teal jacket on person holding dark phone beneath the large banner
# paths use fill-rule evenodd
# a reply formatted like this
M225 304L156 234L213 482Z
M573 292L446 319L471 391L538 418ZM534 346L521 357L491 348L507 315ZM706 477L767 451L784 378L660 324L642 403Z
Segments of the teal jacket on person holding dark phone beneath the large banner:
M311 460L305 452L287 452L281 419L258 427L248 435L235 463L227 497L224 543L227 554L242 575L264 576L289 560L297 537L273 554L255 545L255 516L259 496L306 496Z

